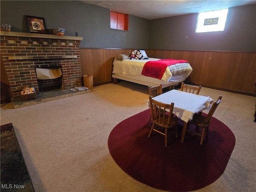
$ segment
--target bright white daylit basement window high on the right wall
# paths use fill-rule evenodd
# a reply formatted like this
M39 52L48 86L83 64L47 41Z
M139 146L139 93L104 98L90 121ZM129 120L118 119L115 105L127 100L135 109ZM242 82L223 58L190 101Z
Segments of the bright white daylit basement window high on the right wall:
M196 24L196 33L223 31L227 15L228 9L199 13Z

